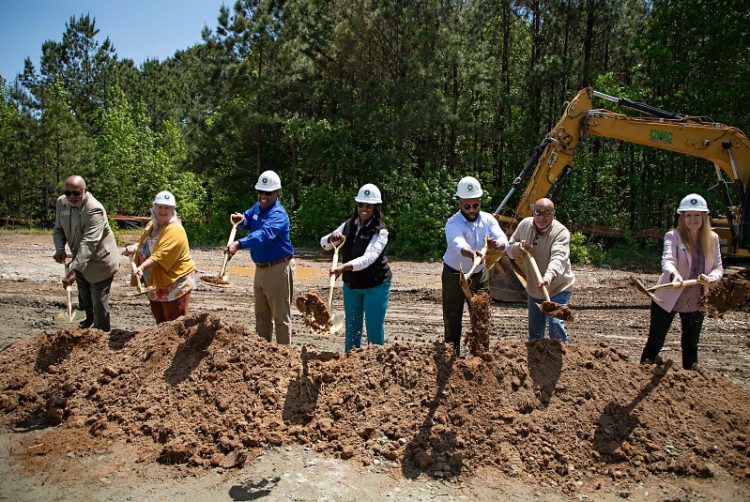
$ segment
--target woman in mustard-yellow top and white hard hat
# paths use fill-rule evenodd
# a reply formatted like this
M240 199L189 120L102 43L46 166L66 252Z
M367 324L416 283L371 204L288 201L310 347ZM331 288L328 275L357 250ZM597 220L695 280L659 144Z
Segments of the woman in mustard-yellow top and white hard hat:
M127 246L124 255L137 252L134 275L153 287L147 293L156 323L173 321L188 313L190 292L195 287L195 262L190 257L187 234L177 217L172 193L156 194L151 221L137 245Z

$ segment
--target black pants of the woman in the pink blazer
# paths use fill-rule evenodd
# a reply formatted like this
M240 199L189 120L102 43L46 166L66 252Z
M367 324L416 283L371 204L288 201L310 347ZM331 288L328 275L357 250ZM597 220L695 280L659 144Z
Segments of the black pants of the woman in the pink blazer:
M655 302L651 302L651 325L648 330L648 341L641 354L641 362L653 361L664 347L669 327L676 312L667 312ZM697 312L680 312L682 324L682 367L691 369L698 362L698 340L703 328L703 314Z

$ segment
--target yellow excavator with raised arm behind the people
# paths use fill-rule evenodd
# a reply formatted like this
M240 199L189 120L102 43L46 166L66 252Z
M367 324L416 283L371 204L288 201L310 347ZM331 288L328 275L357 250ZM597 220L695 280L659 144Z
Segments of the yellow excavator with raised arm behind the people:
M631 117L593 106L594 98L636 110ZM736 127L681 115L651 105L610 96L587 87L567 105L560 121L534 149L510 191L495 210L495 218L507 235L542 197L554 200L570 173L573 154L586 136L600 136L684 153L713 163L726 214L713 220L721 238L722 253L750 257L750 141ZM531 173L530 181L514 211L506 205ZM725 178L726 177L726 178ZM490 295L502 302L525 301L521 264L502 256L490 275Z

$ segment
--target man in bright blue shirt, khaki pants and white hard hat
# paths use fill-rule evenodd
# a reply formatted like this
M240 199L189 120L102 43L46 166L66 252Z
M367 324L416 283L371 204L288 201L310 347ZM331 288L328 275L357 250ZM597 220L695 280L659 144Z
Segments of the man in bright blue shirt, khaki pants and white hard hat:
M249 249L255 262L255 330L272 341L292 341L292 295L294 291L294 248L289 240L289 216L279 202L281 179L265 171L255 184L258 202L243 213L233 213L233 223L250 233L227 246L231 258L240 249Z

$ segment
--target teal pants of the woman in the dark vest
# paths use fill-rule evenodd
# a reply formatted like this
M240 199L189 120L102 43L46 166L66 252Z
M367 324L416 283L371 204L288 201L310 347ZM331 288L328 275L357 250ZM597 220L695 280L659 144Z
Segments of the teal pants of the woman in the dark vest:
M362 345L362 320L367 323L367 343L385 342L385 311L391 296L391 281L365 289L353 289L344 284L344 313L346 314L345 350Z

